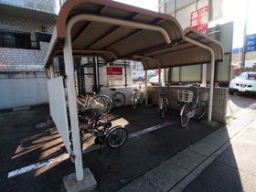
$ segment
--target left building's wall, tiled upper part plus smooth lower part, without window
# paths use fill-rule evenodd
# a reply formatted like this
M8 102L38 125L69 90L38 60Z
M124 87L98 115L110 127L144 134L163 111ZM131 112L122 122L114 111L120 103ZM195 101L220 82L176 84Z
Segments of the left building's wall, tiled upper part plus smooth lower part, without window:
M51 34L54 26L48 23L22 18L0 16L0 30L30 33L36 40L36 32ZM39 49L0 48L0 110L48 103L47 73L44 59L48 43L40 42Z

